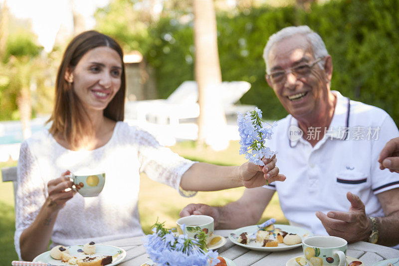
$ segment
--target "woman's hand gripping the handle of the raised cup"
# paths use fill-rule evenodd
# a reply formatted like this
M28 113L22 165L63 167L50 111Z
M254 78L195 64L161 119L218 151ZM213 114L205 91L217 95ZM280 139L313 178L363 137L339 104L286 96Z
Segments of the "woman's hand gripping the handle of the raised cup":
M60 177L51 179L47 183L48 197L46 203L54 211L62 209L66 202L76 194L76 191L72 189L73 182L67 176L69 174L70 172L66 171Z

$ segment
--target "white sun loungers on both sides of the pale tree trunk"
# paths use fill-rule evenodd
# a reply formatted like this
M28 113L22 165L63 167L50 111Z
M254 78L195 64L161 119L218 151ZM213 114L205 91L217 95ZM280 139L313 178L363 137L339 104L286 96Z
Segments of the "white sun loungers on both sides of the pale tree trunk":
M226 116L253 110L253 105L236 104L251 84L246 81L224 81L220 85L220 98ZM138 124L154 123L178 125L181 120L198 118L198 86L196 81L183 82L167 99L127 102L125 117Z

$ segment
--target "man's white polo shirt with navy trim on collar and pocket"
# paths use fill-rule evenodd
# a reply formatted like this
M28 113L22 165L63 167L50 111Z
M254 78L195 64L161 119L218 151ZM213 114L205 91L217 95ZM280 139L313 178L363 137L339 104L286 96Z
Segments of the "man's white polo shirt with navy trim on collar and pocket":
M292 225L318 235L327 232L315 213L348 211L348 191L361 198L367 215L384 216L376 195L399 187L399 174L380 170L377 161L387 141L399 136L392 118L384 110L361 102L350 101L348 105L348 98L333 93L337 96L333 120L314 147L304 137L316 134L298 139L298 122L291 115L278 122L273 138L266 142L278 151L277 166L287 179L265 188L277 190L281 209ZM315 129L313 133L318 130L324 131Z

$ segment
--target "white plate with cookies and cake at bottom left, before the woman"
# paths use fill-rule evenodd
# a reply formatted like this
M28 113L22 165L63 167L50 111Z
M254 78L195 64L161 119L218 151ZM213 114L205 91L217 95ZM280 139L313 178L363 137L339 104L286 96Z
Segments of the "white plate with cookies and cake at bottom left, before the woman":
M75 256L77 258L87 256L83 252L78 252L79 249L83 249L83 245L69 246L69 247L65 247L65 248L67 248L69 250L69 253L72 256ZM107 266L114 266L114 265L118 265L119 263L121 263L123 261L123 259L125 259L125 257L126 257L125 250L118 248L118 247L114 247L114 246L97 245L96 244L96 253L94 255L90 255L90 256L102 256L102 255L114 256L118 253L119 253L119 256L116 257L112 261L111 264L107 265ZM46 251L46 252L38 255L36 258L33 259L32 262L43 262L43 263L49 263L52 265L59 265L59 266L65 266L65 265L69 266L70 265L67 263L63 263L61 260L55 260L55 259L51 258L50 251Z

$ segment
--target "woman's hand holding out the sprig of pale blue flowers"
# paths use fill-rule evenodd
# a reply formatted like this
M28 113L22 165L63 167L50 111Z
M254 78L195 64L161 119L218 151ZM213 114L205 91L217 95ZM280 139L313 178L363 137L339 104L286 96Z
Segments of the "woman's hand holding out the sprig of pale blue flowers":
M247 188L254 188L266 185L274 181L284 181L286 177L279 173L276 167L276 155L270 159L263 158L264 166L246 162L240 166L240 177L242 184Z

